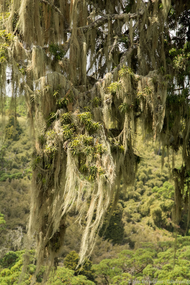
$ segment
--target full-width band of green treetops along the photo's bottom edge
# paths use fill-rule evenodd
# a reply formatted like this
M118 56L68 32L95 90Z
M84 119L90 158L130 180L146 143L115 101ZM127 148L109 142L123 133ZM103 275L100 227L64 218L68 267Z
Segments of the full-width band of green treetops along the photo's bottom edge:
M78 262L78 254L74 251L66 256L64 265L58 267L52 278L52 285L126 285L132 280L175 280L184 281L190 278L190 237L177 239L175 267L173 270L173 252L171 242L158 244L142 243L136 250L123 250L117 257L103 259L99 264L92 265L88 260L82 272L74 270ZM9 251L1 260L1 285L16 285L21 274L24 251ZM23 285L29 285L36 265L31 260L28 273L24 277ZM85 262L85 263L86 263ZM35 263L35 262L34 262ZM72 268L72 269L71 269ZM45 268L42 266L36 276L35 284L40 285ZM94 280L95 279L95 280ZM91 280L94 280L91 281ZM188 281L187 281L188 282Z

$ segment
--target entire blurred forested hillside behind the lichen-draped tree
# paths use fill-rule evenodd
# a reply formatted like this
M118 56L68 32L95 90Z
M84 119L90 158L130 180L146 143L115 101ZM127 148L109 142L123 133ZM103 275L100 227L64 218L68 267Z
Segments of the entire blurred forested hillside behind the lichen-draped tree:
M7 105L9 98L7 98ZM9 114L10 115L10 114ZM17 284L24 253L23 240L30 203L31 138L26 122L25 107L17 108L17 123L7 117L5 140L0 152L0 284ZM103 236L99 233L90 260L83 268L75 267L82 233L73 224L77 213L71 211L66 220L68 226L65 244L59 256L59 266L53 285L127 284L134 280L184 280L190 278L190 236L187 215L178 229L175 267L173 227L171 211L174 203L174 186L168 172L168 158L161 170L162 148L142 143L137 138L137 148L143 159L133 188L122 188L117 209ZM176 167L181 155L176 156ZM108 210L109 213L109 210ZM105 220L106 223L106 220ZM185 235L186 232L186 235ZM185 235L185 236L184 236ZM31 264L23 285L29 284L35 271L35 260L30 252ZM32 264L32 261L34 261ZM45 268L36 277L40 284ZM79 273L79 274L78 274Z

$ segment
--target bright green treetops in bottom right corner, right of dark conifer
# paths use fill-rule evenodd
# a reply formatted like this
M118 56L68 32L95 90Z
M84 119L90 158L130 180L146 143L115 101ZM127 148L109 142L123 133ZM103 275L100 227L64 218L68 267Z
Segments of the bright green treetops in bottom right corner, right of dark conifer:
M126 284L132 280L187 280L189 279L189 237L178 237L176 263L173 269L171 243L162 242L157 245L141 243L136 251L124 250L117 258L103 259L93 265L98 284ZM156 247L159 252L156 252ZM158 250L158 249L157 249Z

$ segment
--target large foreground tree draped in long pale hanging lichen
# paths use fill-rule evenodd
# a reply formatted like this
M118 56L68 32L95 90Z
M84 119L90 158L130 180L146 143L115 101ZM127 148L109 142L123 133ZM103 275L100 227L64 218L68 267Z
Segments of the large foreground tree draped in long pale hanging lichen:
M28 221L28 237L36 237L36 274L44 260L50 265L44 282L56 268L74 204L79 224L85 215L79 262L91 253L108 206L111 217L117 204L121 179L125 186L134 183L142 161L135 148L138 124L162 145L162 165L165 150L168 157L170 148L173 153L177 228L190 177L189 1L0 3L2 117L10 85L11 106L16 110L23 96L31 129L39 133Z

